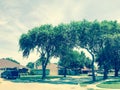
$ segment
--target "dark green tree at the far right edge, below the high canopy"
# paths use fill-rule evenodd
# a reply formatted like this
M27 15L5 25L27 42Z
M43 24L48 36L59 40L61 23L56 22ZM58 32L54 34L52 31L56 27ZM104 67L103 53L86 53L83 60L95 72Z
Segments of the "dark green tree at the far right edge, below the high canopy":
M111 66L115 70L115 77L118 76L118 71L120 69L120 36L114 35L110 38L109 50Z

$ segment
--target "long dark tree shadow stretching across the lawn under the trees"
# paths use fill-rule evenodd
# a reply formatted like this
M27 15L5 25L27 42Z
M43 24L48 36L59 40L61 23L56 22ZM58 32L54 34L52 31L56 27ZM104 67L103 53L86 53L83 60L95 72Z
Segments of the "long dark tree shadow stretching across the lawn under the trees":
M101 77L97 78L97 81L100 81ZM49 84L70 84L70 85L78 85L86 86L87 84L93 84L95 82L92 81L91 77L84 77L84 78L72 78L72 77L55 77L52 79L49 77L45 80L42 80L40 78L21 78L16 80L11 80L15 83L49 83Z

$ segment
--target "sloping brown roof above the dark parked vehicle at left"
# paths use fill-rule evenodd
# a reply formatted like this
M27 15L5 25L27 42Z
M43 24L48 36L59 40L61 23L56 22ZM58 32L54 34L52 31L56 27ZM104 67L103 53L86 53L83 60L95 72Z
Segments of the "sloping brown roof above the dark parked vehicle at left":
M6 60L6 59L0 59L0 68L25 68L25 66L22 66L20 64L17 64L15 62Z

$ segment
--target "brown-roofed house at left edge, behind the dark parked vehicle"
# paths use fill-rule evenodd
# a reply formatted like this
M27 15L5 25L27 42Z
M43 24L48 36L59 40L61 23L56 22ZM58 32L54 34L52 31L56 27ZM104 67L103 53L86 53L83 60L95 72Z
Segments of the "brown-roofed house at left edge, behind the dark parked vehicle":
M4 58L0 59L0 76L1 76L1 73L4 72L5 70L14 69L14 68L23 69L23 68L26 68L26 67L22 66L20 64L17 64L15 62L6 60Z

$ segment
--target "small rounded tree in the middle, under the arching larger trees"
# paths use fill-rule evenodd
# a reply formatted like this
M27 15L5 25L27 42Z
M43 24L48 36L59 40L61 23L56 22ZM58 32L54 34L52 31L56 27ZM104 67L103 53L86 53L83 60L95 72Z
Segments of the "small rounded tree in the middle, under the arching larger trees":
M88 58L83 52L78 53L77 51L66 50L59 61L59 66L64 68L64 77L66 77L67 69L81 70L87 63L85 59L87 60Z

